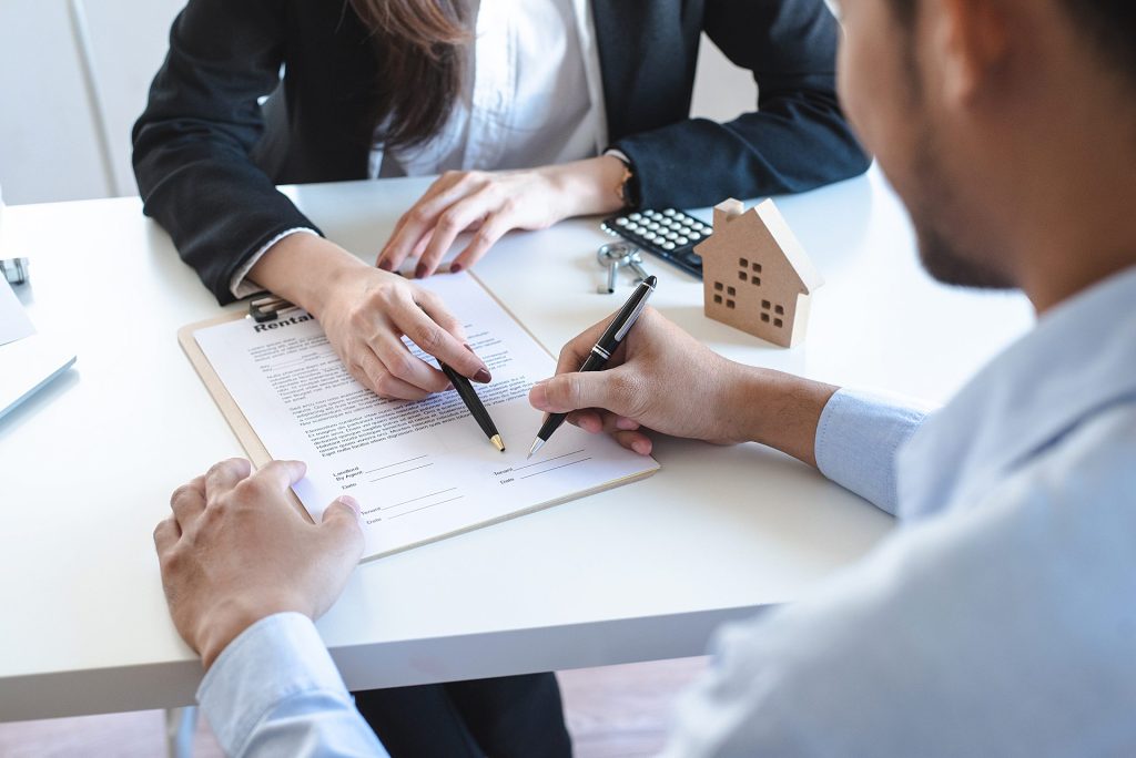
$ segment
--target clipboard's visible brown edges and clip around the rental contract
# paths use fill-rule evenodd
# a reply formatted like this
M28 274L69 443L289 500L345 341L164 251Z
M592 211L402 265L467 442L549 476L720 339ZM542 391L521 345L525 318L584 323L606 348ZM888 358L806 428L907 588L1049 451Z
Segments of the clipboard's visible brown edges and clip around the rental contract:
M504 303L502 303L500 301L500 298L498 298L496 295L494 295L493 292L488 287L485 286L485 284L481 279L474 277L469 272L467 272L466 276L468 276L470 279L473 279L477 284L477 286L481 287L494 301L494 303L499 308L501 308L501 310L506 314L508 314L508 317L515 323L517 323L525 331L525 334L527 334L533 339L533 342L536 345L538 345L540 348L553 362L556 362L556 356L548 348L548 346L544 345L544 343L542 343L536 337L536 335L534 335L532 332L532 330L529 330L524 325L524 322L520 319L518 319L516 317L516 314L511 310L509 310L509 308L507 305L504 305ZM264 465L266 465L267 463L269 463L273 460L273 456L269 454L268 448L265 446L264 441L257 435L257 432L253 429L252 424L249 422L249 420L245 418L244 413L241 411L240 406L237 405L236 401L233 398L232 394L229 394L229 391L226 388L224 381L222 381L222 379L218 376L217 371L214 369L212 364L209 362L208 356L204 354L204 352L201 349L201 346L198 344L197 338L195 338L194 335L198 331L200 331L202 329L208 329L210 327L215 327L215 326L228 323L228 322L232 322L232 321L237 321L237 320L241 320L241 319L253 319L254 314L258 311L258 309L262 304L265 304L265 303L269 303L268 310L275 311L275 313L272 314L272 318L275 318L275 315L282 314L282 313L284 313L286 311L290 311L292 309L300 310L302 312L302 309L299 309L298 306L294 306L291 303L287 303L285 301L279 301L278 298L269 296L269 297L257 298L257 300L251 301L250 302L250 311L248 313L244 312L244 311L228 312L228 313L225 313L225 314L219 315L219 317L214 318L214 319L209 319L209 320L206 320L206 321L200 321L200 322L194 322L194 323L186 325L186 326L182 327L181 329L178 329L178 331L177 331L177 340L181 344L183 352L185 353L186 357L190 360L190 363L193 365L194 370L198 372L198 376L201 378L202 384L206 386L206 389L209 391L209 395L212 397L212 399L216 403L218 410L222 412L222 415L225 416L225 421L228 423L229 428L233 430L233 433L236 435L237 441L241 443L241 446L244 448L245 453L248 454L249 460L252 462L253 466L257 468L257 469L260 469ZM257 321L265 321L265 320L270 320L270 318L267 314L261 314L261 318L256 318L254 320L257 320ZM634 482L634 481L638 481L641 479L645 479L645 478L654 474L655 472L658 472L661 469L661 465L658 464L658 461L655 461L654 463L655 463L655 468L651 469L649 471L643 471L643 472L640 472L637 474L633 474L633 475L628 475L628 477L623 477L623 478L619 478L619 479L615 479L615 480L611 480L611 481L607 481L607 482L604 482L604 483L602 483L600 486L596 486L596 487L591 487L591 488L585 488L585 489L582 489L582 490L577 490L577 491L574 491L570 495L567 495L565 497L553 497L553 498L550 498L549 500L544 500L544 502L534 504L534 505L532 505L529 507L520 508L520 509L517 509L517 511L511 511L511 512L509 512L507 514L503 514L501 516L487 519L487 520L484 520L484 521L481 521L481 522L477 522L477 523L470 523L470 524L468 524L466 527L462 527L460 529L454 529L454 530L451 530L451 531L448 531L448 532L444 532L444 533L438 533L438 534L435 534L435 536L433 536L433 537L431 537L428 539L423 539L423 540L419 540L419 541L416 541L416 542L412 542L412 544L408 544L408 545L404 545L404 546L399 547L396 549L384 550L384 551L379 551L379 553L376 553L376 554L373 554L373 555L367 555L367 556L364 556L360 559L360 563L367 563L367 562L375 561L377 558L382 558L382 557L385 557L385 556L389 556L389 555L394 555L396 553L402 553L404 550L410 550L410 549L414 549L414 548L417 548L417 547L421 547L424 545L429 545L432 542L436 542L436 541L441 541L441 540L444 540L444 539L449 539L451 537L457 537L459 534L463 534L466 532L470 532L470 531L474 531L476 529L482 529L484 527L491 527L493 524L501 523L501 522L504 522L504 521L509 521L509 520L516 519L518 516L523 516L523 515L527 515L527 514L531 514L531 513L535 513L537 511L543 511L545 508L551 508L553 506L561 505L563 503L568 503L568 502L571 502L571 500L585 498L585 497L588 497L591 495L596 495L599 492L603 492L603 491L607 491L609 489L615 489L617 487L621 487L624 485L627 485L627 483L630 483L630 482ZM291 490L291 489L289 490L289 497L290 497L292 504L304 516L304 519L307 519L309 522L314 522L314 520L311 517L311 514L308 512L308 508L304 507L303 503L295 495L295 492L293 490Z

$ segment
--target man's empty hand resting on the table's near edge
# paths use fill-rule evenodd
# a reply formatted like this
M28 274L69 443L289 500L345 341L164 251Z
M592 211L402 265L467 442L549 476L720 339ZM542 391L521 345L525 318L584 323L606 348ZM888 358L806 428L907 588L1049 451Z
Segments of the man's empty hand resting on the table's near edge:
M289 498L296 461L252 473L223 461L177 488L153 531L169 613L206 668L242 631L285 610L315 620L343 591L362 553L359 508L341 497L319 524Z

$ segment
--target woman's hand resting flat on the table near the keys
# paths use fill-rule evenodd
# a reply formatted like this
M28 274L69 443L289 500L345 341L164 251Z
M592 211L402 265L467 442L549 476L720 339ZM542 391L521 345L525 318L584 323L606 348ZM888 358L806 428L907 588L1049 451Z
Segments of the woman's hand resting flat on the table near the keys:
M624 165L610 155L524 171L448 171L410 208L378 255L396 271L418 259L415 276L428 277L462 231L476 231L451 271L476 263L510 229L544 229L570 216L621 207Z

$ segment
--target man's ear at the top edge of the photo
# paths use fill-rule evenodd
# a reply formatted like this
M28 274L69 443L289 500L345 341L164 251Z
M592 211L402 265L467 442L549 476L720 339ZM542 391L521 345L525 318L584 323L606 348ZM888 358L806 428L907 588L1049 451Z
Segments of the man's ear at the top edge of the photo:
M1036 0L1030 0L1036 2ZM925 0L932 16L929 62L946 103L974 103L991 93L1009 61L1013 0Z

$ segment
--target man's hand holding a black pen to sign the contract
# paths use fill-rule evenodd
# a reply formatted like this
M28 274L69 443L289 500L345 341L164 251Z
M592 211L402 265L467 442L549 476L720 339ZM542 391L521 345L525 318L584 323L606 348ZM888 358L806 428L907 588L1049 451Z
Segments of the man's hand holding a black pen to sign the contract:
M533 407L568 413L569 423L641 455L651 453L651 429L720 445L754 440L816 464L817 422L836 387L728 361L650 308L605 370L579 373L608 322L565 346L557 376L529 391Z

